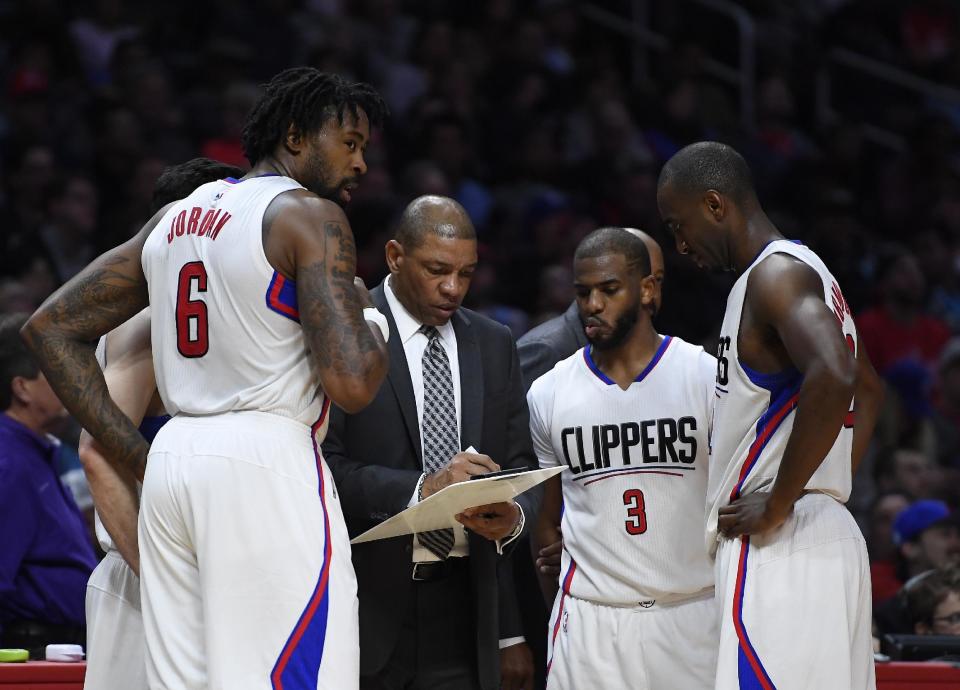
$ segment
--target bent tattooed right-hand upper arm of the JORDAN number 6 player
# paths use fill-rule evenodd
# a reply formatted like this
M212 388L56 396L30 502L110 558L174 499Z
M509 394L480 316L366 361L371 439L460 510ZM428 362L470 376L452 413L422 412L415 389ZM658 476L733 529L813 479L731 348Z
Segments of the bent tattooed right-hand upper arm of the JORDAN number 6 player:
M300 323L323 390L348 413L359 412L387 375L379 329L363 318L369 296L354 285L353 232L336 204L308 192L282 194L263 220L264 251L297 283Z

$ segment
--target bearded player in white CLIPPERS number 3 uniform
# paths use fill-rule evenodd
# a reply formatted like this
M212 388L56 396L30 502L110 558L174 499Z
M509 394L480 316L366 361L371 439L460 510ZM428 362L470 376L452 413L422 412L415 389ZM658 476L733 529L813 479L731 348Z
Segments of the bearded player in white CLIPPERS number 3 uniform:
M700 542L716 363L661 336L643 241L588 235L574 256L589 345L528 393L548 480L537 539L563 531L550 618L547 687L709 688L717 626ZM562 502L562 518L561 518Z

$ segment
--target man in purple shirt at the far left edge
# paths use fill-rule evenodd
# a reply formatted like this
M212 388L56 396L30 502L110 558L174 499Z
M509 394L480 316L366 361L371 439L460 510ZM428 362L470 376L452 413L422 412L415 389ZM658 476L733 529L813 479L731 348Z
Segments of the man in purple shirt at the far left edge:
M0 321L0 647L84 640L96 565L77 504L57 475L47 431L65 412L20 340L26 314Z

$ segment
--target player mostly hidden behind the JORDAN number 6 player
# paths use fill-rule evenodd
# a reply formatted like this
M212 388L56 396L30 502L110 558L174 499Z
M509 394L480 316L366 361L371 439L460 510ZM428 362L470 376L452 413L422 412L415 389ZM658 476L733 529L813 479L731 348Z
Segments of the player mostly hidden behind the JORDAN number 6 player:
M153 211L184 198L201 184L242 175L240 168L208 158L167 168L154 187ZM149 308L101 338L97 360L110 396L124 414L140 424L144 438L152 441L169 416L153 375ZM87 583L84 687L146 688L136 480L119 474L86 432L80 437L80 459L97 506L97 539L106 553Z

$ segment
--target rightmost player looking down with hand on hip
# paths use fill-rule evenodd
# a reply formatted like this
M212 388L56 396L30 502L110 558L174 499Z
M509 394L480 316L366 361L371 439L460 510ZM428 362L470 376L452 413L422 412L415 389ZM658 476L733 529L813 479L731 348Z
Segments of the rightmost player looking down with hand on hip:
M681 254L739 274L717 351L707 495L716 687L872 688L867 550L843 503L882 389L840 286L777 231L729 146L682 149L657 202Z

